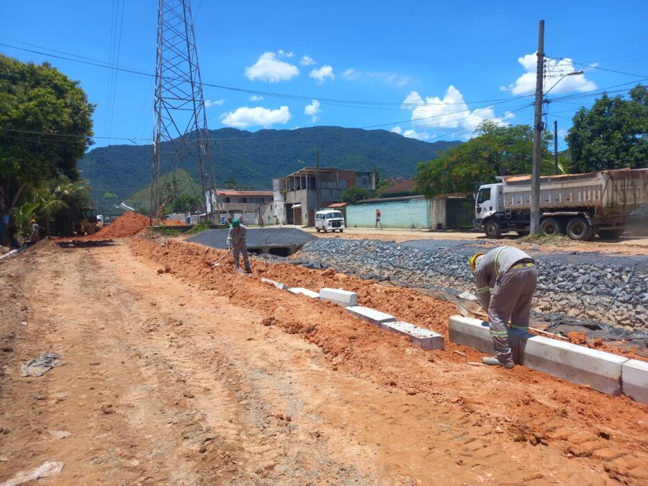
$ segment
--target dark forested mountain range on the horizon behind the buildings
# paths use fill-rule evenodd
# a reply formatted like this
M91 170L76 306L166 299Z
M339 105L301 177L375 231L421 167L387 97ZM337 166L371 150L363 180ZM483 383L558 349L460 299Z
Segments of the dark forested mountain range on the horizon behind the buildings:
M337 126L258 132L236 128L210 131L217 186L224 187L226 179L231 177L239 187L253 189L271 189L273 178L301 167L315 167L316 149L319 149L320 167L354 170L377 167L382 178L410 178L419 162L431 160L458 143L421 142L385 130ZM92 199L97 201L99 212L115 212L113 206L126 199L133 203L146 199L142 190L146 192L151 181L152 156L152 145L110 145L94 149L78 161L81 176L92 184ZM197 166L195 158L184 156L179 163L163 160L162 172L186 169L192 181L200 185ZM178 179L181 177L186 178L186 174L178 173Z

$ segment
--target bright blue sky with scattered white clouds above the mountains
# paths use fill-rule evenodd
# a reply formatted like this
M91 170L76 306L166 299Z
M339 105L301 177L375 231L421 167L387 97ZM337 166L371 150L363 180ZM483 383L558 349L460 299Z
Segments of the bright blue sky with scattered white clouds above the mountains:
M0 44L6 45L0 52L24 61L48 60L80 81L97 103L95 146L147 144L153 78L127 72L115 76L110 69L53 55L108 62L113 45L115 59L119 47L120 66L152 74L157 6L154 0L2 2ZM563 78L549 92L554 101L545 121L553 126L558 120L561 137L574 111L590 106L597 90L609 87L624 94L648 78L646 1L533 6L192 0L192 9L204 83L300 97L206 86L212 129L336 125L383 128L433 141L467 140L483 119L532 124L533 99L525 95L535 88L539 19L545 19L547 56L574 62L547 60L545 89L562 74L584 71ZM120 38L118 44L111 42L113 35Z

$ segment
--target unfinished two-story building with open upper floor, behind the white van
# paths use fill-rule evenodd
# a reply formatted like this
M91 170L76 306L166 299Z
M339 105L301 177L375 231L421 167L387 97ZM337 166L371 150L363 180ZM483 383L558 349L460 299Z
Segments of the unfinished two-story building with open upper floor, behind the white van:
M315 226L315 212L342 201L347 187L376 190L372 171L304 167L288 176L273 179L273 212L280 224Z

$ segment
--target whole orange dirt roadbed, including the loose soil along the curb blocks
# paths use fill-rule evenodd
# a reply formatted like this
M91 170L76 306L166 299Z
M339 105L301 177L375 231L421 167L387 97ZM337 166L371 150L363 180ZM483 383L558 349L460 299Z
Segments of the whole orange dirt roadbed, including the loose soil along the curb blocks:
M471 367L452 351L480 354L460 346L421 351L331 303L210 271L222 253L201 246L39 246L0 267L0 482L47 460L65 467L39 484L648 481L648 407L625 397ZM452 312L254 268L358 287L442 332ZM20 377L50 350L62 366Z

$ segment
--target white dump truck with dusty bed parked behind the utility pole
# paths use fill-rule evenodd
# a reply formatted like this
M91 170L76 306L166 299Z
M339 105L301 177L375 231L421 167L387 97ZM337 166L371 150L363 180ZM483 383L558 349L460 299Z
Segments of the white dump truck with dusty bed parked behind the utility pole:
M475 228L490 238L529 234L531 176L499 177L479 187ZM628 216L648 204L648 169L615 169L540 178L540 231L572 240L619 237Z

